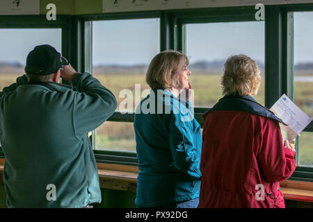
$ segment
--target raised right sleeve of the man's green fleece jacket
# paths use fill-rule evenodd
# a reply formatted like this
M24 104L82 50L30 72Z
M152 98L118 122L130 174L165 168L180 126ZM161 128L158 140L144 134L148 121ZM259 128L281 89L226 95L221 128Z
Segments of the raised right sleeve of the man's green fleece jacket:
M73 125L75 134L80 136L111 117L117 101L109 89L88 73L75 74L72 85L78 90L74 96Z

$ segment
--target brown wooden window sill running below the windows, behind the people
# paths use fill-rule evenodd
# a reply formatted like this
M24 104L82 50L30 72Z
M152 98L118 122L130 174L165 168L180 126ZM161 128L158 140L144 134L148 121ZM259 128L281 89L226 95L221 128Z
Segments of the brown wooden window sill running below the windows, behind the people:
M3 164L0 159L0 184L3 184ZM136 192L138 167L97 163L100 187ZM313 182L284 180L280 189L286 200L313 203Z

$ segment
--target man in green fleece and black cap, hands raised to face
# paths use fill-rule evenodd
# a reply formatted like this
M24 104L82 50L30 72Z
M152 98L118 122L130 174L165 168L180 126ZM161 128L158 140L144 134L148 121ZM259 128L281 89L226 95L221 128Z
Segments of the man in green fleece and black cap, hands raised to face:
M88 132L117 107L115 96L79 74L52 46L36 46L26 75L0 92L0 141L8 207L88 207L101 202ZM72 87L58 83L71 81Z

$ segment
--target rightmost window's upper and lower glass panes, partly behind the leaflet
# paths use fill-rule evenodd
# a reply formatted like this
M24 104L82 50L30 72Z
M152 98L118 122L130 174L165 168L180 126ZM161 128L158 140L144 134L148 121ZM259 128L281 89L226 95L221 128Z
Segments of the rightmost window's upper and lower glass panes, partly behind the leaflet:
M294 12L294 103L313 117L313 12ZM299 137L299 165L313 167L313 135Z

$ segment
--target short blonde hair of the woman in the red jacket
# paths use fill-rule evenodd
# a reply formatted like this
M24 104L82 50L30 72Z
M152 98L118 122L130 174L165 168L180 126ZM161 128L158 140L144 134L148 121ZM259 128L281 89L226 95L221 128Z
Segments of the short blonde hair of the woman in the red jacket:
M221 79L223 95L255 96L261 76L257 62L248 56L230 56L224 64Z

